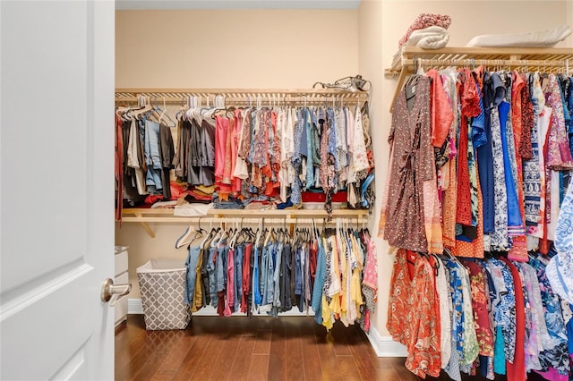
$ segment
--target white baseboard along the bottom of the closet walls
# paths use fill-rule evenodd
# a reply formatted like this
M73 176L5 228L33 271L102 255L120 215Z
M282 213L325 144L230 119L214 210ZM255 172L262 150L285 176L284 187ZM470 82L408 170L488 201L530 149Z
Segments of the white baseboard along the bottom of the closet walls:
M143 305L141 299L131 298L127 301L128 314L142 314ZM213 307L204 307L197 312L193 312L194 316L218 316L217 309ZM236 314L244 315L244 314ZM281 313L280 316L306 316L306 313L301 313L298 309L291 309L288 312ZM314 316L312 309L309 316ZM372 344L372 348L376 351L378 357L406 357L406 347L401 343L395 342L390 336L382 336L374 326L370 326L370 332L366 334L368 340Z

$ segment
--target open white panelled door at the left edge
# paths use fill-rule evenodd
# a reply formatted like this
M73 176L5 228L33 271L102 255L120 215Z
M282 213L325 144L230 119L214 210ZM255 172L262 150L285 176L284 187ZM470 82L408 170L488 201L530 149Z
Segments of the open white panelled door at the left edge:
M112 1L0 1L0 379L113 379Z

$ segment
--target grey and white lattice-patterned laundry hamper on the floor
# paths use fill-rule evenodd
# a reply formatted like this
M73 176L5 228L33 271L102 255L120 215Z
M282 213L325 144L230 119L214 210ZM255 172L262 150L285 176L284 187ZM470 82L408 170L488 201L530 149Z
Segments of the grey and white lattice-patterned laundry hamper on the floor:
M185 329L191 310L184 302L186 268L181 259L150 259L136 271L145 329Z

